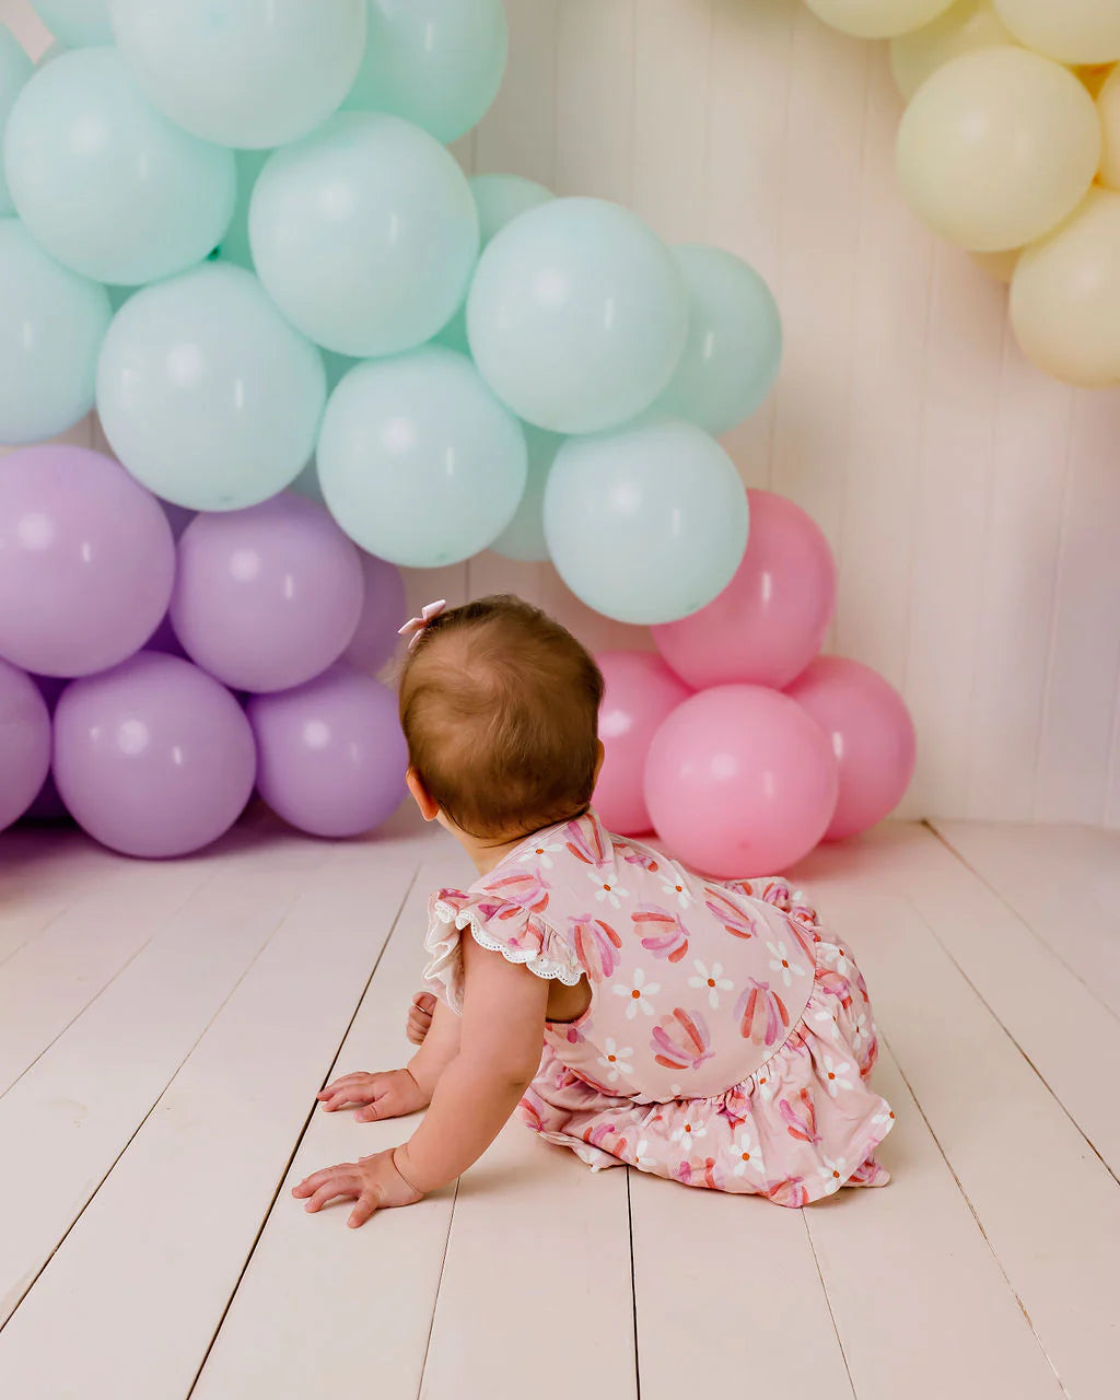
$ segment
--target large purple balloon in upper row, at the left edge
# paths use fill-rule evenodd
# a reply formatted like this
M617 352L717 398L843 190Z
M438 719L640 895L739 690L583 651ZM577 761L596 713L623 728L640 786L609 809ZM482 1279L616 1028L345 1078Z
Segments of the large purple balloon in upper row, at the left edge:
M118 462L48 442L0 462L0 655L48 676L115 666L167 612L175 543Z

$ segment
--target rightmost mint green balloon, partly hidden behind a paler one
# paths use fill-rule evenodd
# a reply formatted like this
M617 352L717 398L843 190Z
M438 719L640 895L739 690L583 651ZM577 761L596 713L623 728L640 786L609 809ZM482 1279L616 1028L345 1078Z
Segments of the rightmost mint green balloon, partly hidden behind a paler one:
M757 409L781 364L781 316L750 263L724 248L685 244L673 258L689 288L689 339L657 400L720 434Z

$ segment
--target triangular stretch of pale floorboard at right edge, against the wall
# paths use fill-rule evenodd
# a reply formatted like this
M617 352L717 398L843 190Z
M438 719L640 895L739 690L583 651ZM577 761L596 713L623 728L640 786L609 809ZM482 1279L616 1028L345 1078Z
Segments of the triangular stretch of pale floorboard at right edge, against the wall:
M981 822L937 822L935 829L1088 993L1120 1016L1120 834Z

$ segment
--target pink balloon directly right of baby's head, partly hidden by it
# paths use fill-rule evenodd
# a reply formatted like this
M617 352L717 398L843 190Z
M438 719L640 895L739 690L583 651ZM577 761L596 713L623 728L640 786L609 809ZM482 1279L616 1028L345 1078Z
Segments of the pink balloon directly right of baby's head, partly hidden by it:
M606 682L599 708L606 752L594 802L612 832L636 836L652 826L643 791L650 742L692 692L654 651L605 651L595 659Z

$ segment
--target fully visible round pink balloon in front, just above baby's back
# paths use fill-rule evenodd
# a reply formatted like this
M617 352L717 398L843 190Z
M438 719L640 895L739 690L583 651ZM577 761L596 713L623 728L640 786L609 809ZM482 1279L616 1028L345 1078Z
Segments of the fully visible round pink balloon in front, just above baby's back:
M776 875L806 855L836 806L827 735L763 686L715 686L678 706L645 760L654 827L721 879Z

